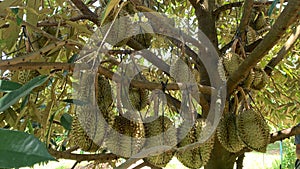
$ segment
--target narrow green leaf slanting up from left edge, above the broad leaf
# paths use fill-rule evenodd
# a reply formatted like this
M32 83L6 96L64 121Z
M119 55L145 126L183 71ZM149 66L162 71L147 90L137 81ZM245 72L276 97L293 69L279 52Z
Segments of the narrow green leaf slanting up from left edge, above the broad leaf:
M19 89L4 95L2 98L0 98L0 112L3 112L11 105L15 104L20 98L29 94L34 88L45 83L47 79L48 76L46 75L37 76Z

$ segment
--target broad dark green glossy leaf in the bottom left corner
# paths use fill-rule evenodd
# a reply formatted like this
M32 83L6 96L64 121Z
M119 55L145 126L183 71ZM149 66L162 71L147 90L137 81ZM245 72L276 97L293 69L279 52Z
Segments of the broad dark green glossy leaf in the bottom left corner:
M33 135L0 129L0 167L19 168L55 160Z

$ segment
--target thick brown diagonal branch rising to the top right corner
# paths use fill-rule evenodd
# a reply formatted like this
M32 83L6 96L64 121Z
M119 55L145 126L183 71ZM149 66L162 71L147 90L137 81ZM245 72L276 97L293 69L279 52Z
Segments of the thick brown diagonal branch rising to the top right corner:
M287 28L297 20L300 11L299 0L289 0L288 5L280 14L272 29L265 36L262 42L239 66L238 70L229 77L227 81L228 96L234 91L237 85L246 77L247 73L272 49L280 40Z

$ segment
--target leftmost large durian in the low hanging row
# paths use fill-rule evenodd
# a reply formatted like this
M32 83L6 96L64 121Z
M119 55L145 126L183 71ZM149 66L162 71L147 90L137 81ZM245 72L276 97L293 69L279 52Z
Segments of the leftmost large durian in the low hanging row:
M99 115L99 114L98 114ZM105 128L97 109L91 105L77 106L73 117L70 141L88 152L97 151L104 139Z

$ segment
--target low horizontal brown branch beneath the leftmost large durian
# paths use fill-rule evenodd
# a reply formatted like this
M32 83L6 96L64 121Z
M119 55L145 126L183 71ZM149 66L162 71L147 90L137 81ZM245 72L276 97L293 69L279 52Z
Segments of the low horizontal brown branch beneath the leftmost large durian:
M57 151L52 148L48 149L48 152L57 159L70 159L78 162L97 160L101 163L106 163L118 159L114 154L74 154L67 151Z

